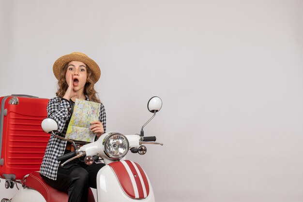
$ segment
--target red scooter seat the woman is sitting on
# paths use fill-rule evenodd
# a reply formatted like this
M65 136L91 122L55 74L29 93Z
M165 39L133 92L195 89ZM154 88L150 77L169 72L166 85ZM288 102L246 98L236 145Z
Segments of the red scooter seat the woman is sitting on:
M55 188L49 186L40 176L39 172L32 172L26 178L25 186L33 188L45 198L46 202L67 202L68 194L63 191L59 191ZM89 189L89 199L88 202L95 202L93 193Z

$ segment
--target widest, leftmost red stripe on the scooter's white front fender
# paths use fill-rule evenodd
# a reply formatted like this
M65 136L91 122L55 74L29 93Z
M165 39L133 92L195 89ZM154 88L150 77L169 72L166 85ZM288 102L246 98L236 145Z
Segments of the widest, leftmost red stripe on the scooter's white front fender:
M125 193L135 199L134 187L124 165L120 161L112 162L108 165L113 169Z

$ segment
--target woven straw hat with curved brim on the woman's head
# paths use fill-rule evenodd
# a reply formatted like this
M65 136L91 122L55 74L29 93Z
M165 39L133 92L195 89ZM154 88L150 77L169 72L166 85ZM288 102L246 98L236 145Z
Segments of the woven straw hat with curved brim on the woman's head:
M55 61L53 66L53 72L58 80L60 79L60 74L64 66L71 61L80 61L85 63L91 69L91 72L93 74L92 81L94 82L94 84L99 80L101 71L98 64L91 58L85 56L84 54L80 55L76 53L64 55Z

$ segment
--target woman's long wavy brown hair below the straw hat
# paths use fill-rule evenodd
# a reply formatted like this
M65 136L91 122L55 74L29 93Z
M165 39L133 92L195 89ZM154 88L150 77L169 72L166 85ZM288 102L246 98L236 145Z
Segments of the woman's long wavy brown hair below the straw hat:
M86 64L85 64L86 65ZM56 95L58 97L63 98L65 95L65 92L68 88L66 79L65 79L65 74L67 72L67 67L68 63L64 65L61 73L60 73L60 79L58 80L58 91L56 92ZM94 83L92 81L92 72L89 66L86 65L86 70L87 70L87 78L86 78L86 84L84 86L84 94L89 98L90 101L94 102L101 102L98 98L97 91L94 88Z

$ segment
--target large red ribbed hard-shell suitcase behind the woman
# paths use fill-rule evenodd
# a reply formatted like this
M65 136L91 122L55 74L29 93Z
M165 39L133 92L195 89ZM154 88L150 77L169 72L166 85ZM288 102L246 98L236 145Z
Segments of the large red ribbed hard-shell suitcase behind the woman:
M40 170L49 140L41 128L48 101L27 95L0 98L0 177L5 186Z

